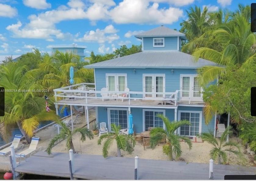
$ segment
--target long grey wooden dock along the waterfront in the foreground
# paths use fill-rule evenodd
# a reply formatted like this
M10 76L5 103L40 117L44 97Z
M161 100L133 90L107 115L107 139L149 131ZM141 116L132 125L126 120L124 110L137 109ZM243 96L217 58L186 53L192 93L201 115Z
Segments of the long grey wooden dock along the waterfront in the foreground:
M69 154L38 152L21 162L17 172L47 176L69 176ZM139 159L140 180L207 180L209 164ZM256 167L214 165L214 179L224 175L255 175ZM96 155L74 155L74 177L92 180L133 180L134 158L113 157L104 159Z

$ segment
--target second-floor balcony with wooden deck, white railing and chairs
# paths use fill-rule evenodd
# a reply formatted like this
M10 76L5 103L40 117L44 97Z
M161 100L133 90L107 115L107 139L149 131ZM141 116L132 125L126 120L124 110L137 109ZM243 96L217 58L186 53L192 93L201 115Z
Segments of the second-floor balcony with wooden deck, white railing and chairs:
M103 107L177 107L179 103L203 103L202 100L193 100L188 97L180 97L180 93L187 91L176 90L175 92L134 92L126 88L124 91L108 91L102 88L95 90L94 83L81 83L54 89L56 104L72 104ZM190 93L189 93L190 94ZM187 95L187 94L186 94ZM200 95L200 94L199 94Z

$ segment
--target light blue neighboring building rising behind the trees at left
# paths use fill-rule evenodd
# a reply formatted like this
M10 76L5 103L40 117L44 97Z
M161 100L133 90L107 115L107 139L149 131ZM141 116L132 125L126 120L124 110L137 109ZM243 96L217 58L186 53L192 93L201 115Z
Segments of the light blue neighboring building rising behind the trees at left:
M77 44L71 44L71 45L49 45L49 48L52 48L52 54L55 53L55 51L60 52L72 52L74 54L77 54L80 56L81 61L85 61L85 46L79 46Z

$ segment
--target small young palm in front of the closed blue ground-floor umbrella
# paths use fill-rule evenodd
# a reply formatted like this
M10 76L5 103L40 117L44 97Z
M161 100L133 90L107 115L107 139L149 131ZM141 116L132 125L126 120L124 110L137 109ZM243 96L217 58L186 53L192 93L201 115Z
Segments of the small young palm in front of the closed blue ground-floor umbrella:
M98 140L98 145L101 145L103 139L106 139L103 144L103 157L108 156L108 150L113 143L113 140L117 142L117 157L121 157L121 150L127 151L129 154L132 153L133 148L135 146L135 140L132 135L123 135L120 134L120 126L115 124L111 124L111 128L113 132L109 132L103 135L100 135Z

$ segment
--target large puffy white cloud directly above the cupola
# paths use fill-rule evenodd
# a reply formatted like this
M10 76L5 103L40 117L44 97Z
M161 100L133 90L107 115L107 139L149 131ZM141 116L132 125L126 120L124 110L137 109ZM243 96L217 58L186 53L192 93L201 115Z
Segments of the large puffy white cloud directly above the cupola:
M115 23L171 24L183 16L179 8L159 8L158 3L150 5L148 0L124 0L110 11Z

